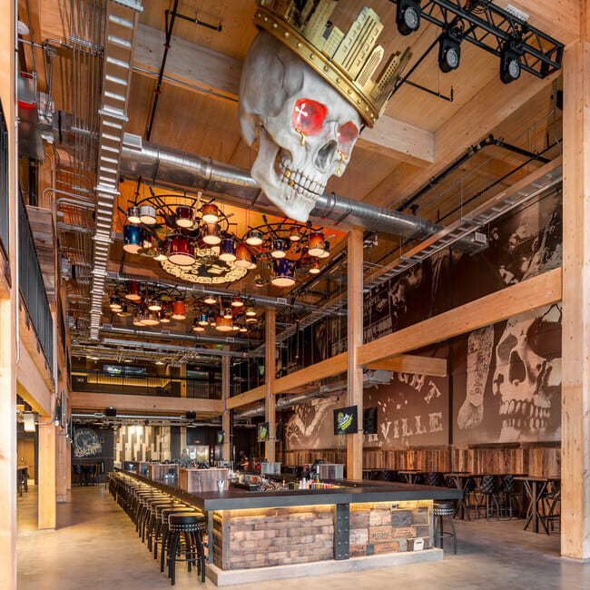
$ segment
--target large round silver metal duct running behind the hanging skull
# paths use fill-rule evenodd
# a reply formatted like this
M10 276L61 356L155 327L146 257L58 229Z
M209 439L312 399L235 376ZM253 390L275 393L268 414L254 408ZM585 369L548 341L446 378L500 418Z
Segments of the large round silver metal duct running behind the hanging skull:
M230 195L229 202L242 207L274 211L265 204L258 184L250 172L237 166L215 162L198 154L161 148L143 142L138 135L125 133L121 150L121 174L131 178L139 176L152 182L181 190L202 190ZM406 238L419 239L437 233L443 227L400 211L355 201L337 194L321 195L311 217L317 220L347 221L369 231L381 231ZM467 251L481 250L472 236L457 242Z

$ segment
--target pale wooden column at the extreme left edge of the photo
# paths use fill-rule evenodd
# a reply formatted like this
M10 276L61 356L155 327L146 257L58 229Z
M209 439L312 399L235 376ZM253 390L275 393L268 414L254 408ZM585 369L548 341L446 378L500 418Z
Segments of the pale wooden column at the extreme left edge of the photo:
M15 277L15 3L0 0L0 98L8 128L9 259ZM14 285L14 279L13 279ZM0 587L16 588L16 339L17 297L0 268Z

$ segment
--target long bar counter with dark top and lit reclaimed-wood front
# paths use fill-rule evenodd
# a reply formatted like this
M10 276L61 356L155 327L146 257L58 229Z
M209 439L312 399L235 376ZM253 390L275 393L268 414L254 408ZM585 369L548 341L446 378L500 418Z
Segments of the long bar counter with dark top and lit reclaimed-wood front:
M329 489L188 493L123 473L208 516L207 575L232 585L442 559L432 503L459 489L381 481L330 481Z

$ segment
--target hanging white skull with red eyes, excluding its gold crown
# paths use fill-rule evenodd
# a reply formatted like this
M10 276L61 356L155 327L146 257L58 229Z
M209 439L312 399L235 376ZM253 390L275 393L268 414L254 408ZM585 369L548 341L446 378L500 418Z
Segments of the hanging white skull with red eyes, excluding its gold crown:
M308 221L357 141L355 108L300 57L261 31L241 73L239 116L249 145L259 140L252 178L290 218Z

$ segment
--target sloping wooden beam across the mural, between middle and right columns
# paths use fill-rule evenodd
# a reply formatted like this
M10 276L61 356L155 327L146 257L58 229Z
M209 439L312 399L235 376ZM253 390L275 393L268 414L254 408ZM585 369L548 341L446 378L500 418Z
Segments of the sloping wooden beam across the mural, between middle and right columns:
M358 363L367 366L409 350L465 334L524 311L561 300L561 268L506 287L454 310L420 321L408 328L359 347Z

